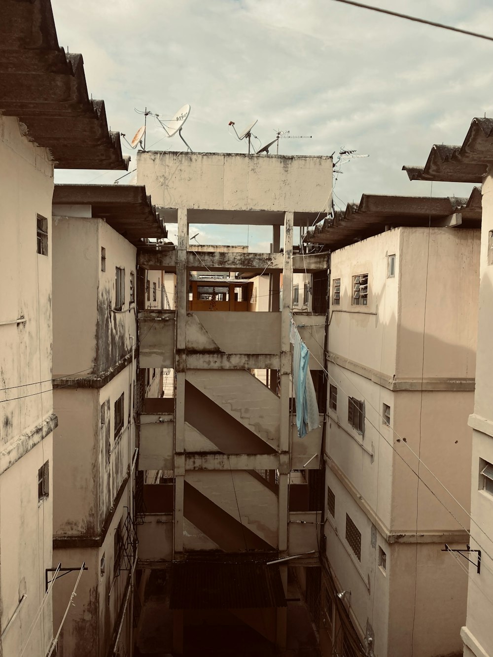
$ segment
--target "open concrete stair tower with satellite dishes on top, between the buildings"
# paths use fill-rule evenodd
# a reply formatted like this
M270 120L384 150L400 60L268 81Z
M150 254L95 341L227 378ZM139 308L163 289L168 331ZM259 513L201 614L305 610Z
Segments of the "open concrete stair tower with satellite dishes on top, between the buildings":
M166 222L177 222L177 247L143 248L137 259L145 269L176 273L176 310L139 313L140 363L172 368L176 394L149 399L153 412L140 417L142 478L147 470L166 472L162 483L144 486L143 623L157 613L160 595L159 616L163 624L173 618L174 629L161 650L218 654L229 640L237 654L241 646L248 654L272 651L286 642L287 564L268 562L293 556L318 566L319 510L309 489L320 480L322 437L320 426L301 440L291 424L292 304L284 294L279 309L279 279L291 291L293 272L327 271L326 256L293 256L292 239L294 225L327 209L332 160L139 153L137 181L156 187L156 179L162 184L153 198ZM191 222L272 225L273 253L195 253ZM189 310L191 271L263 272L277 298L263 312ZM300 331L310 334L307 325L323 326L325 314L302 319ZM267 388L254 369L278 372L279 388ZM298 484L293 470L306 479ZM143 651L147 638L139 633Z

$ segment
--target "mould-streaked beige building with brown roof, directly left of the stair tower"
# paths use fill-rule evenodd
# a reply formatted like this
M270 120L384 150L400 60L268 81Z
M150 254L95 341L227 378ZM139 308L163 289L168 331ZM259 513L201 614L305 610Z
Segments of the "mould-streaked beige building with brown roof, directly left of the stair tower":
M57 654L131 654L136 563L136 246L166 231L144 187L57 185L53 196L53 562L87 566ZM149 277L152 301L160 273ZM156 303L156 300L159 303ZM74 348L75 347L75 348ZM162 393L160 369L141 373ZM77 572L57 583L59 625Z

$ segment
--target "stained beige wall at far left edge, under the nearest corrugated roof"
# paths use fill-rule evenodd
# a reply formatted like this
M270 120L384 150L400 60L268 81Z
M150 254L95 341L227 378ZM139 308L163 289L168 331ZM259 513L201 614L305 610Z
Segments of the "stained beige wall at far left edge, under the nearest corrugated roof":
M51 432L51 199L53 162L0 116L0 621L16 618L1 644L20 654L45 594L51 566L53 488L38 502L38 469L53 472ZM48 220L48 255L37 254L36 215ZM17 323L18 319L22 319ZM42 383L39 383L42 382ZM7 390L5 390L7 389ZM46 392L41 392L46 391ZM3 401L11 399L12 401ZM53 637L47 603L24 657L44 657ZM1 648L0 648L1 652Z

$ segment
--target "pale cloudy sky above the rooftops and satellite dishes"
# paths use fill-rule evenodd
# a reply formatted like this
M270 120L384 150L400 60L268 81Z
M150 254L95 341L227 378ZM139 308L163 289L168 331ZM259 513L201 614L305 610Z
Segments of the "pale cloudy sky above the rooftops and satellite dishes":
M367 0L493 35L488 0ZM433 143L462 143L471 119L492 116L493 42L454 34L334 0L52 0L59 43L82 53L87 87L102 98L111 128L131 139L134 108L170 118L184 103L193 150L245 152L228 131L258 119L262 144L275 130L281 154L330 155L356 148L369 158L342 167L335 203L363 193L428 196L403 164L424 164ZM231 130L231 129L230 129ZM182 150L150 120L147 148ZM259 142L256 142L256 144ZM124 152L130 153L124 148ZM135 166L132 159L130 170ZM112 184L120 172L64 171L57 182ZM132 175L122 180L131 181ZM433 195L471 186L435 183ZM241 229L243 230L243 229ZM204 229L203 243L235 235ZM243 231L245 232L245 231ZM262 240L250 229L250 247ZM246 243L237 236L239 242Z

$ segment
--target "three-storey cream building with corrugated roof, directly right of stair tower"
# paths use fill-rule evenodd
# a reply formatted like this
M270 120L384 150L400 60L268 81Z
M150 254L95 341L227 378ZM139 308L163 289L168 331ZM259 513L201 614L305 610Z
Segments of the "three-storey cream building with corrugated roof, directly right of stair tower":
M461 653L444 547L469 540L480 225L477 188L364 195L309 236L331 250L323 654Z

